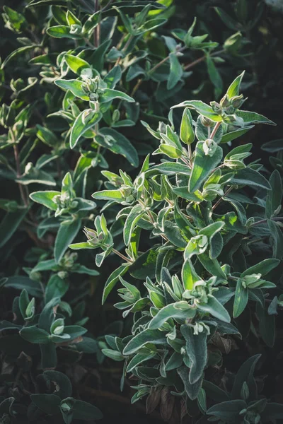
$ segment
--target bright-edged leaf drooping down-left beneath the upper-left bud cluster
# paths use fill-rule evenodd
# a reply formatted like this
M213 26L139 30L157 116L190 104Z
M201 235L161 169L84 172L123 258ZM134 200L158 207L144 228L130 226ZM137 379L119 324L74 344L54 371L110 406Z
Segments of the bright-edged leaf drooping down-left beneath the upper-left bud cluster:
M101 118L102 113L100 112L96 112L92 109L83 110L83 112L76 117L76 120L71 127L70 147L75 148L81 136L83 136L86 131L93 128L93 126L95 126Z

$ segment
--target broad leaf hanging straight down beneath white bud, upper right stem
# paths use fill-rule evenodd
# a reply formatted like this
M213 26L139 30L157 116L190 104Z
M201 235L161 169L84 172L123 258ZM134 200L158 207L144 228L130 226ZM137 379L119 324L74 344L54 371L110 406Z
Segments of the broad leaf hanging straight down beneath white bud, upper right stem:
M204 152L204 143L204 141L198 141L195 148L195 160L189 180L190 193L193 193L200 188L210 172L214 170L214 167L219 165L222 159L221 147L216 146L212 155L206 155Z

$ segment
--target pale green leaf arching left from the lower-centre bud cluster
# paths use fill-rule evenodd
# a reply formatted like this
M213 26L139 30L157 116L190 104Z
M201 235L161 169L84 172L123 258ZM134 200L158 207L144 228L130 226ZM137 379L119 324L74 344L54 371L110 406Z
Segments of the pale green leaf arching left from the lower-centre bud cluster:
M171 305L164 306L158 311L156 316L151 319L149 329L155 330L161 328L168 319L185 319L195 317L195 310L190 308L187 302L175 302Z

